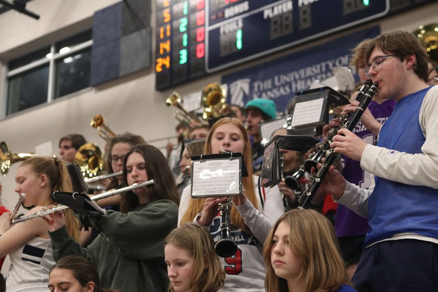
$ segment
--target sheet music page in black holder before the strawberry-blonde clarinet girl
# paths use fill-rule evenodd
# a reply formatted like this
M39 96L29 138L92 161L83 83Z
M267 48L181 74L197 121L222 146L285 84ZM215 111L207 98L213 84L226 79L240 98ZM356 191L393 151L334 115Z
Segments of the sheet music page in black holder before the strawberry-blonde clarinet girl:
M241 159L192 161L192 198L241 194Z

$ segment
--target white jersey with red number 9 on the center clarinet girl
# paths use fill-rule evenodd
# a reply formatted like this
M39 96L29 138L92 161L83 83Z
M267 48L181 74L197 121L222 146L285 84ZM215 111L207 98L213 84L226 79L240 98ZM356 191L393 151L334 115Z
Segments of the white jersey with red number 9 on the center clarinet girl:
M254 192L257 198L258 209L247 200L236 206L240 216L245 220L253 235L248 235L240 228L231 226L231 237L237 244L235 256L219 257L226 272L225 285L221 292L264 292L265 291L265 263L263 260L263 243L268 237L274 222L284 213L283 202L277 186L263 188L258 185L259 177L254 177ZM187 186L181 197L178 214L180 224L183 214L187 210L190 198L190 185ZM195 219L196 220L196 219ZM209 231L216 241L220 238L221 217L213 219Z

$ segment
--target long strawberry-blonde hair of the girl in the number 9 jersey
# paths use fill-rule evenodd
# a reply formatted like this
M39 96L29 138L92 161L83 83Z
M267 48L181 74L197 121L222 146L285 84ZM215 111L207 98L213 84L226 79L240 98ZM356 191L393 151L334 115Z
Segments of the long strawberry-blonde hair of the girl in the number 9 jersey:
M210 132L208 132L207 141L205 142L204 146L204 153L203 154L211 154L211 140L213 137L213 134L215 130L224 124L233 124L239 128L240 132L242 133L243 140L245 142L245 145L243 147L243 160L245 161L246 169L248 170L248 177L242 178L242 184L246 191L246 196L249 201L253 204L253 206L257 209L258 208L258 202L256 198L256 193L254 192L254 181L253 181L253 165L251 160L251 144L249 141L248 134L246 132L245 127L243 127L243 124L240 120L236 118L222 118L219 121L217 121L213 127L210 129ZM187 211L185 211L183 218L181 219L180 224L183 224L184 222L191 222L196 215L199 214L199 212L202 211L202 207L204 206L205 198L203 199L189 199L190 203L187 208ZM239 227L243 231L245 231L247 234L251 234L251 231L249 230L248 226L246 226L245 221L240 216L239 212L236 210L234 205L231 208L231 223L234 226Z

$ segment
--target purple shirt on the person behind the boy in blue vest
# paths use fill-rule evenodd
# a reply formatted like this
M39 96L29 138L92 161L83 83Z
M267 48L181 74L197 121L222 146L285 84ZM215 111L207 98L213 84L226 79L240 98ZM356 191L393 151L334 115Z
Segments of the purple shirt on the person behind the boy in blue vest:
M383 122L391 115L395 104L396 101L392 99L385 100L381 104L372 100L368 105L368 109L371 111L374 118L383 124ZM359 123L356 126L353 133L362 138L362 140L368 144L374 144L374 141L377 139L376 135L371 131L368 131L362 123ZM344 171L342 172L344 178L350 183L359 185L361 188L369 188L371 185L370 174L361 168L361 163L346 156L343 156L342 158L344 162ZM338 204L335 219L337 237L365 235L368 229L368 219L357 215L346 206Z

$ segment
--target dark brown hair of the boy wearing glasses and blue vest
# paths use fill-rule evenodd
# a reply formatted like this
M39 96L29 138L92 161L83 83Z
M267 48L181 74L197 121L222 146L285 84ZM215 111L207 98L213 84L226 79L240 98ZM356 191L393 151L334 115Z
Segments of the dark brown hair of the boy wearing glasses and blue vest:
M407 55L415 54L414 72L417 76L427 82L428 56L426 50L420 45L417 37L404 31L393 31L381 34L371 40L366 47L365 61L368 63L369 57L374 49L379 48L385 54L398 55L402 62Z

